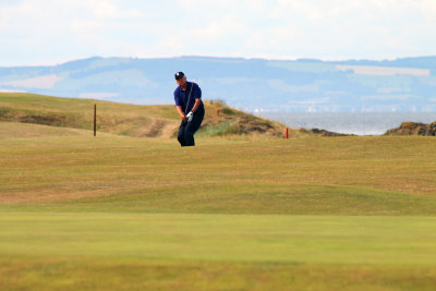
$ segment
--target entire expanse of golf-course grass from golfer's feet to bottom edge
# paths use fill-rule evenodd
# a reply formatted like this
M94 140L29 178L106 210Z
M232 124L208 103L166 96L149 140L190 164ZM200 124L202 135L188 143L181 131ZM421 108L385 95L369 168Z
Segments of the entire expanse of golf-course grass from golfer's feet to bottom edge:
M2 125L1 290L436 288L434 138Z

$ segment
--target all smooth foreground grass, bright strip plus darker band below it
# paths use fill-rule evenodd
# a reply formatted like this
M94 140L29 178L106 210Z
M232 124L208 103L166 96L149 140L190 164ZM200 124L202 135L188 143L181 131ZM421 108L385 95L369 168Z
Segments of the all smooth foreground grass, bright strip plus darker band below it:
M1 213L0 288L397 290L436 283L436 220Z

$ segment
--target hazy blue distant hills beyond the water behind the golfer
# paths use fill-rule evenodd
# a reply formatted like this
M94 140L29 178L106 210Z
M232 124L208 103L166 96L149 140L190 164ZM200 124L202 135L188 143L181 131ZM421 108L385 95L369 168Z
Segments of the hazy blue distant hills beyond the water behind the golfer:
M251 112L436 111L436 57L337 62L95 57L51 66L0 68L0 92L170 105L177 71L198 78L205 99Z

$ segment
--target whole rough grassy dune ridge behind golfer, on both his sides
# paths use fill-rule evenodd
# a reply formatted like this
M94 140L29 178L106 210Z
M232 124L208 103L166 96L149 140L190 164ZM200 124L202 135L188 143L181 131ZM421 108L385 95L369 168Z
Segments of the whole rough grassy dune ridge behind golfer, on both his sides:
M205 101L206 116L198 135L267 135L282 137L284 125ZM171 137L180 124L174 106L137 106L90 99L59 98L23 93L0 93L0 122L22 122L93 130L97 105L97 130L136 137ZM217 111L219 110L219 116ZM0 132L1 133L1 132ZM291 135L308 135L292 130ZM4 134L3 134L4 135Z

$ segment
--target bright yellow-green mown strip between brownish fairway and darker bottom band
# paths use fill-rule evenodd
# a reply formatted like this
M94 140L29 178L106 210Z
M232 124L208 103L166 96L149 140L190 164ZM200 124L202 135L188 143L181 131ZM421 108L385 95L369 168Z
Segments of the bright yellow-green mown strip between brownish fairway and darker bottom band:
M0 213L0 256L436 266L436 218Z

